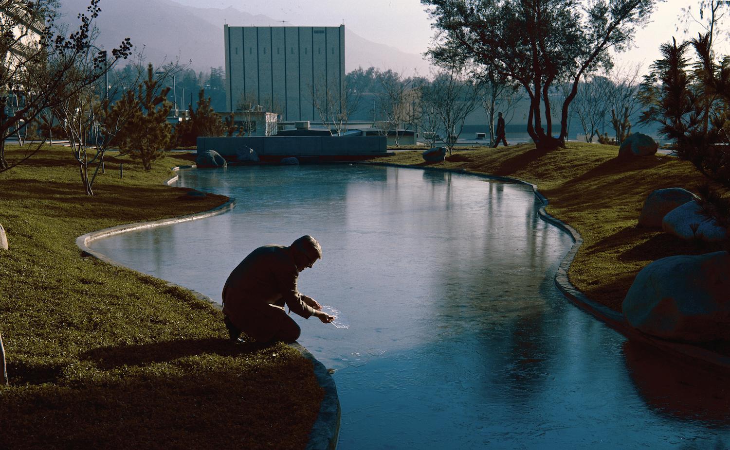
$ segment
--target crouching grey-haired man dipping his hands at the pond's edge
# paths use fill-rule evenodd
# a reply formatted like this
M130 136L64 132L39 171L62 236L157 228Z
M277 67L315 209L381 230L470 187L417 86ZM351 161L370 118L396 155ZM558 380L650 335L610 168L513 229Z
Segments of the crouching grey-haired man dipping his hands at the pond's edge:
M293 342L301 329L284 306L304 319L323 323L334 317L321 311L317 300L296 287L299 272L322 257L322 247L312 236L301 236L290 247L265 245L251 252L234 268L223 287L223 314L231 340L241 332L257 342Z

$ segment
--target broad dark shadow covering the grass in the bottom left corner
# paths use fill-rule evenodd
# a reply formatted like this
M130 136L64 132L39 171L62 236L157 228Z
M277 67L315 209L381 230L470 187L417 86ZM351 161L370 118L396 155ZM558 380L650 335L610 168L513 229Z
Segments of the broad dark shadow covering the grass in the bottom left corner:
M302 379L311 366L283 362L277 370ZM303 449L319 399L252 375L229 368L137 374L77 387L0 387L2 446ZM310 397L316 402L311 406ZM261 408L267 402L274 407Z

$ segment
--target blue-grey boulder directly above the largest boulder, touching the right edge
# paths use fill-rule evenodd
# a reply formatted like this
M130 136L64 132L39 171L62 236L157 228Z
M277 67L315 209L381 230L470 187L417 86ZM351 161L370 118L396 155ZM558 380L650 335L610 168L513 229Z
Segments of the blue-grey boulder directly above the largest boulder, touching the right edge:
M661 220L661 228L685 241L700 239L705 242L723 241L728 231L702 214L702 206L696 201L688 201L666 213Z

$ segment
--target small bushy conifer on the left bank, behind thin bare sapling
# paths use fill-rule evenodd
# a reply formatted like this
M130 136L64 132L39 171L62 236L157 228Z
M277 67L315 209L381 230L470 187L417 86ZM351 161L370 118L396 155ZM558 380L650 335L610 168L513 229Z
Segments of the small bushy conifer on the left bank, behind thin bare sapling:
M125 107L137 107L117 136L118 147L123 153L141 160L146 170L152 168L154 160L164 158L166 150L174 143L172 125L167 122L172 104L165 100L170 88L161 89L160 85L161 80L155 79L150 64L147 79L137 86L137 92L130 90L119 101L126 104Z

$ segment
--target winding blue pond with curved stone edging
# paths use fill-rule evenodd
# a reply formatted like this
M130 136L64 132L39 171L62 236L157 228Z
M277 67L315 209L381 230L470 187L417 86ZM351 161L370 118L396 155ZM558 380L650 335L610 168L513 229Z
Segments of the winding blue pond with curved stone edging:
M220 301L255 247L311 234L300 290L349 329L296 317L335 369L339 449L727 449L727 380L583 313L553 284L572 245L531 189L377 166L183 170L232 212L93 242Z

